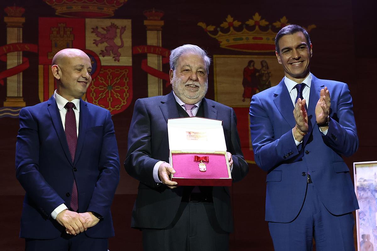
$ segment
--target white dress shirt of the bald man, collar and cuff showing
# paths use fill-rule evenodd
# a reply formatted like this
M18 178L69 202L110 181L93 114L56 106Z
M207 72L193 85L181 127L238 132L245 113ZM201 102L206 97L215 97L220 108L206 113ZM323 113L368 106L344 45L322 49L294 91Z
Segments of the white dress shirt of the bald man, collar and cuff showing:
M63 129L65 130L66 128L66 114L67 114L67 109L64 108L64 106L66 105L66 103L68 102L72 102L75 104L75 108L73 108L73 111L75 112L75 117L76 117L76 130L77 130L77 137L78 137L78 119L79 119L79 115L80 115L80 99L74 99L72 101L68 101L67 99L65 99L64 97L60 96L56 90L54 92L54 99L56 101L56 104L58 105L58 109L59 109L59 113L60 113L60 119L61 119L61 123L63 124ZM56 219L56 216L58 216L58 214L65 210L65 209L68 209L67 206L63 203L61 205L58 205L57 208L55 208L54 211L52 211L51 213L51 217L53 219Z

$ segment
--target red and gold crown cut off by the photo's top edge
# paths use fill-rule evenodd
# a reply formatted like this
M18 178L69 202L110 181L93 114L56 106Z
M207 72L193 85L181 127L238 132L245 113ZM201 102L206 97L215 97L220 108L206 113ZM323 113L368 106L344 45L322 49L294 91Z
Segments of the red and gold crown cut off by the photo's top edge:
M112 17L114 11L127 0L44 0L63 17L101 18Z

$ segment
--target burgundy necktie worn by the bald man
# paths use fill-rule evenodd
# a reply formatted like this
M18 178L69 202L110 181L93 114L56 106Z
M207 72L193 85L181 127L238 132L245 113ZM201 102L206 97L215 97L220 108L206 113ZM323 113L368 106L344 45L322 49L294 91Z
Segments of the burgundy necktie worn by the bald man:
M76 146L77 146L77 129L76 129L76 116L73 110L74 107L75 107L75 104L72 102L68 102L64 106L64 108L67 109L65 133L66 133L69 152L72 158L72 163L75 160L75 152L76 152ZM73 182L71 196L72 197L71 197L71 202L70 202L70 208L72 208L72 210L74 211L77 211L78 210L78 193L77 193L77 186L76 186L75 180Z

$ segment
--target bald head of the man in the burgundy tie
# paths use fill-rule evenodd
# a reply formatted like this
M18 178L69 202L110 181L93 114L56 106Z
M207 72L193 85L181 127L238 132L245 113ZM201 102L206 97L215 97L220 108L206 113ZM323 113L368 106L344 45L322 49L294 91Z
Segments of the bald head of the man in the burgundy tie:
M68 101L80 99L92 81L90 58L79 49L68 48L56 53L51 70L57 81L57 93Z

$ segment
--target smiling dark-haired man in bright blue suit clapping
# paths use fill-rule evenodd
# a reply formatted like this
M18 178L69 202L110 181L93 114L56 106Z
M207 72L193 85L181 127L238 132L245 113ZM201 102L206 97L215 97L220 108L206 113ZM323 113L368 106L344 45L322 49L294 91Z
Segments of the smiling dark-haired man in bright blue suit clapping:
M311 250L314 237L317 250L355 250L351 212L359 206L342 159L359 146L348 86L310 73L312 45L302 27L285 26L275 45L285 77L250 103L274 248Z

